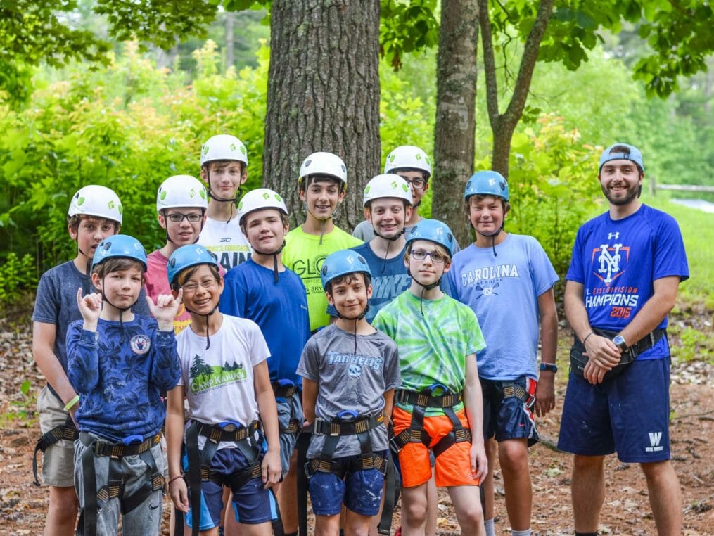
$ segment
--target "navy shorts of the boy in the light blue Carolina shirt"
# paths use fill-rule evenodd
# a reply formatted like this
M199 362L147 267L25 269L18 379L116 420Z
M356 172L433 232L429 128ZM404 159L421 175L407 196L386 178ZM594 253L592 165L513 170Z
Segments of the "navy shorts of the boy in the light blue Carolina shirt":
M529 447L538 443L540 436L531 410L538 382L526 376L508 381L479 379L483 392L483 438L495 436L496 441L527 439ZM521 385L531 398L526 402L515 396L503 398L503 384L508 383Z

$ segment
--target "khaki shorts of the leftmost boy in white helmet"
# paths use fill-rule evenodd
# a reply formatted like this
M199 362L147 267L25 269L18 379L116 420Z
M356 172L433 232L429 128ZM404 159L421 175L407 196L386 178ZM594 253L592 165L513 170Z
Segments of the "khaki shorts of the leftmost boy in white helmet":
M37 411L43 434L48 433L52 428L64 425L69 415L64 410L64 404L46 385L37 397ZM74 443L61 439L47 447L42 455L42 480L49 486L74 486Z

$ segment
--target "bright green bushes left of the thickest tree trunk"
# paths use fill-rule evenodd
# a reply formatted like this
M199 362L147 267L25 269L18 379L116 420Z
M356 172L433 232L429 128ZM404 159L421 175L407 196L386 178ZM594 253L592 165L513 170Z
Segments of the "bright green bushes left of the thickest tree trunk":
M196 56L193 86L155 69L129 45L94 73L69 67L64 80L35 91L22 111L1 108L3 243L36 256L40 270L73 257L64 223L69 199L81 186L99 183L124 203L122 232L149 251L163 245L156 189L171 175L198 176L201 143L216 133L235 133L246 143L248 188L258 186L268 50L258 52L258 68L240 72L223 71L210 41Z

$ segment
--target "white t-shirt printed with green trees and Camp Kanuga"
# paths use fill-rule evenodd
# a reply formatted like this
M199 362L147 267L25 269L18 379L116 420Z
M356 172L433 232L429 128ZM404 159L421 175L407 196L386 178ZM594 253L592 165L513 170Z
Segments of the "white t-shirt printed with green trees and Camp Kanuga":
M223 325L210 339L211 348L206 350L206 337L191 328L176 336L181 361L178 385L184 386L191 419L249 425L258 419L253 367L270 356L263 333L252 320L223 315ZM198 447L205 442L198 437ZM234 445L224 442L218 448Z

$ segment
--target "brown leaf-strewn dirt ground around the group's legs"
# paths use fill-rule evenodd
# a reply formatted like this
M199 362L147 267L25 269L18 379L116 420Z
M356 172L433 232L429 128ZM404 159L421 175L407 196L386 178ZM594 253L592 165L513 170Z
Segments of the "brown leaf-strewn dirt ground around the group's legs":
M710 318L703 330L711 333ZM573 534L570 506L572 458L557 452L560 413L567 363L569 330L561 333L556 395L558 404L538 421L543 442L531 449L533 521L535 535ZM678 341L673 340L673 347ZM673 464L683 491L684 534L714 534L714 368L699 361L674 363L671 388ZM29 380L26 395L22 383ZM32 361L27 328L0 333L0 534L39 535L49 492L32 483L31 455L39 438L34 399L44 385ZM27 386L27 385L26 385ZM26 414L24 412L27 412ZM648 505L645 479L637 465L608 457L607 494L600 534L653 535L655 524ZM506 535L508 517L503 498L501 470L496 467L496 534ZM438 533L458 534L458 525L446 492L440 490ZM166 503L168 505L168 502ZM395 527L399 524L395 515ZM131 536L131 535L128 535Z

